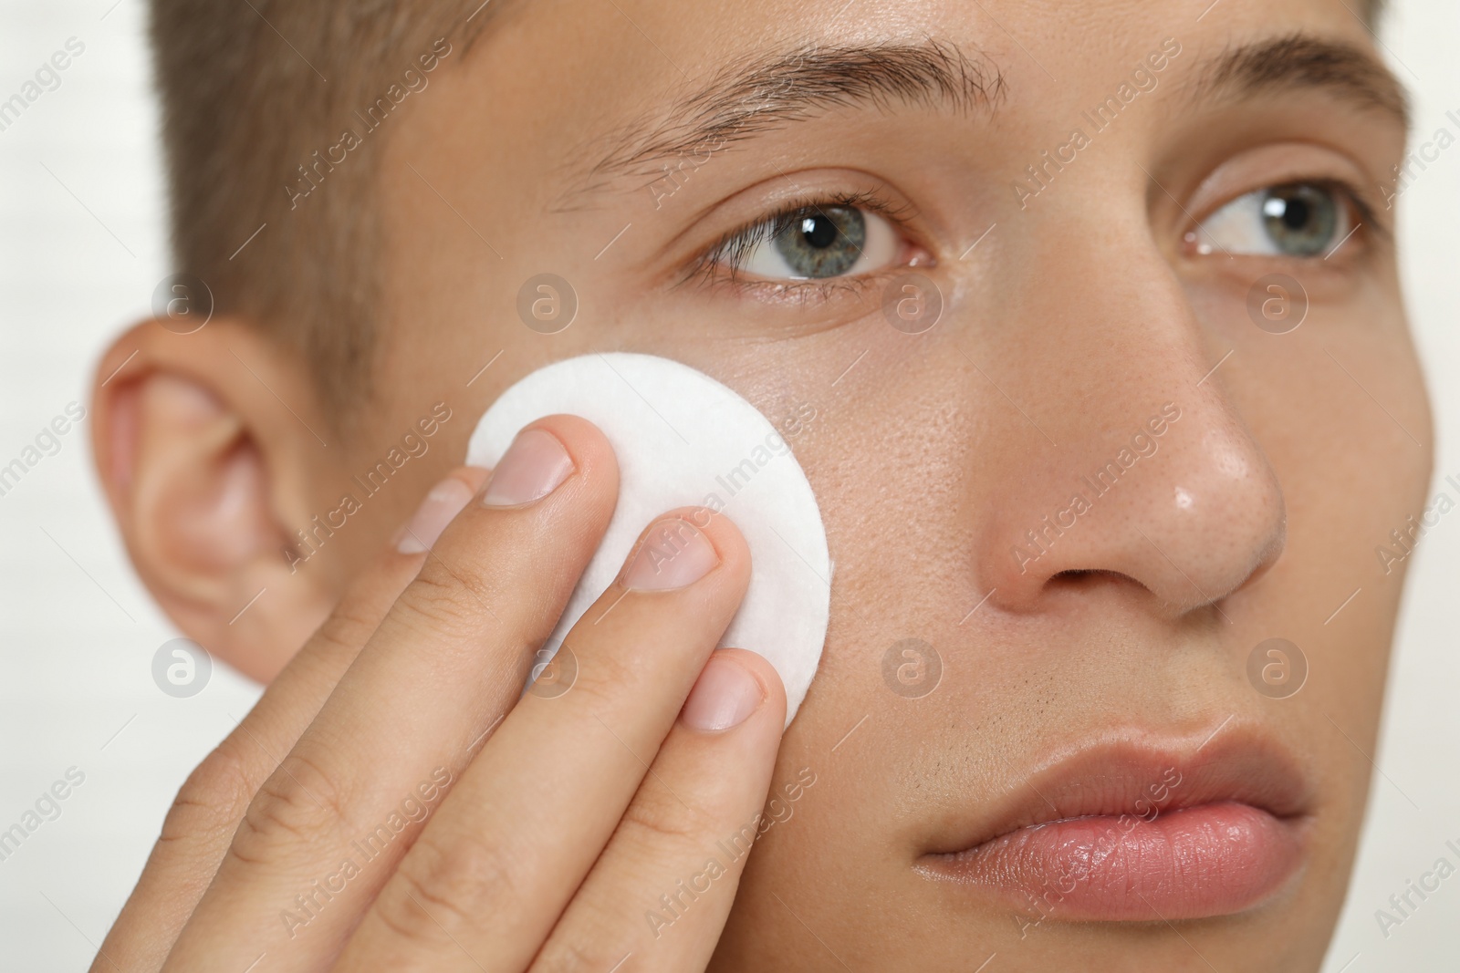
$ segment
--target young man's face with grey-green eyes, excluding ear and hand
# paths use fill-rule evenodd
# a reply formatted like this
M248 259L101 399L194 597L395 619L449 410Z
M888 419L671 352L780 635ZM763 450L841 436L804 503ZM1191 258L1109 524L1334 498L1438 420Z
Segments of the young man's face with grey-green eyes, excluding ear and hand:
M715 969L1317 967L1429 473L1349 7L542 0L393 130L375 429L645 352L816 490Z

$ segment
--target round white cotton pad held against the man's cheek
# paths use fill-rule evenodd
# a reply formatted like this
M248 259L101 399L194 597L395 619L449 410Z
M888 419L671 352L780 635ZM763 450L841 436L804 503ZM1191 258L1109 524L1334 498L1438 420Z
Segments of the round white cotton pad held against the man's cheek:
M619 503L568 600L548 652L618 576L639 532L679 506L720 509L750 548L750 586L720 646L759 652L796 716L826 640L831 556L821 508L787 439L755 406L688 365L653 354L584 354L508 388L472 433L466 461L495 467L517 432L571 413L607 436Z

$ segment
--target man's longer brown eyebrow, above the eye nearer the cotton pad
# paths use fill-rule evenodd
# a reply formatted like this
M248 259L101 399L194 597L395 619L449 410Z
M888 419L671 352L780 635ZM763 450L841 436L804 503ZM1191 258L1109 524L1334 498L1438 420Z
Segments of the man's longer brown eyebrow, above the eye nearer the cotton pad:
M837 108L902 104L968 112L991 108L1003 95L1004 79L993 63L934 39L750 55L602 139L603 155L578 191L623 177L658 178L656 163L666 159L718 152Z

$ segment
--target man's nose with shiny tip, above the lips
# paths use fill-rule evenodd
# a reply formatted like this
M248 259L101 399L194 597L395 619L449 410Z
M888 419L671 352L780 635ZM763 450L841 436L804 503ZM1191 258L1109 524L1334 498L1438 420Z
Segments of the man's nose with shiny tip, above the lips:
M1058 433L993 451L1009 462L980 477L978 573L1013 611L1096 582L1167 614L1219 611L1280 554L1282 489L1149 230L1085 238L1099 242L1031 261L1058 267L1058 286L1031 279L1013 296L1026 340L1003 357L1019 373L1044 363ZM1013 423L1007 435L1031 439Z

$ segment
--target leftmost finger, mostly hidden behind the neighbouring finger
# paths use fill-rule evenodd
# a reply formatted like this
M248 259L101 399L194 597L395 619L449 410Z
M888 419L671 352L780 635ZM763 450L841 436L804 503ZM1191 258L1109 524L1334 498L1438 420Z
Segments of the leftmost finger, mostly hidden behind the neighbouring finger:
M434 537L432 531L439 532L438 524L456 512L451 505L460 508L486 473L476 467L454 470L422 503L410 525L415 534ZM218 871L248 801L318 713L420 562L419 553L402 553L396 546L383 551L346 589L248 715L193 770L93 969L111 970L112 964L126 970L162 967L182 923Z

